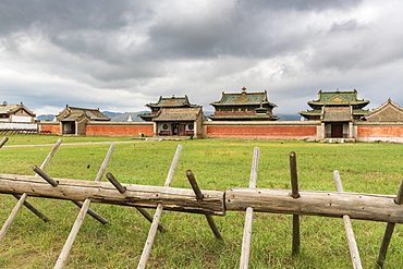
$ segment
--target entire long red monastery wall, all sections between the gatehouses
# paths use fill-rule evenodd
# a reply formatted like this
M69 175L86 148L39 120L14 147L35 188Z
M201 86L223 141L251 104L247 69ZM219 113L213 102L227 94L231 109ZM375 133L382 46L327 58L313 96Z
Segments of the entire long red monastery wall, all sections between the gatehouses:
M40 122L39 132L60 134L60 123ZM204 137L249 139L320 139L322 126L319 121L205 121ZM86 135L154 136L152 122L89 122ZM353 127L357 142L403 143L403 122L355 122Z

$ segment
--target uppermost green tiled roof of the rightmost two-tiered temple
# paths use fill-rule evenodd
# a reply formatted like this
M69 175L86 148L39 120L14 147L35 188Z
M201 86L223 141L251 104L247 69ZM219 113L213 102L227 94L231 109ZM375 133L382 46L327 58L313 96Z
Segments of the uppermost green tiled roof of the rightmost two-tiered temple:
M359 100L357 98L357 90L351 91L321 91L318 93L318 99L308 101L310 107L313 106L361 106L365 107L369 103L369 100Z

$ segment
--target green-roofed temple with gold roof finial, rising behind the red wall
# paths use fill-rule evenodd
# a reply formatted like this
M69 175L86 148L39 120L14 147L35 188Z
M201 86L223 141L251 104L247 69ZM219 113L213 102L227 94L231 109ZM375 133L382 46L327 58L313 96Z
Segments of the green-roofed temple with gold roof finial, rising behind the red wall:
M221 99L211 102L215 113L208 118L212 121L277 121L272 114L277 105L267 98L267 91L247 93L243 87L241 93L222 93Z

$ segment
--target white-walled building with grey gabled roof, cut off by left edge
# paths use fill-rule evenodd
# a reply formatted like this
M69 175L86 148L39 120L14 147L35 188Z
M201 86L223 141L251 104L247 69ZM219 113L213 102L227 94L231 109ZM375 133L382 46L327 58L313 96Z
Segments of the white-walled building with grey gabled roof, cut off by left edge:
M27 109L24 103L8 105L4 101L0 105L0 122L24 122L33 123L36 114Z

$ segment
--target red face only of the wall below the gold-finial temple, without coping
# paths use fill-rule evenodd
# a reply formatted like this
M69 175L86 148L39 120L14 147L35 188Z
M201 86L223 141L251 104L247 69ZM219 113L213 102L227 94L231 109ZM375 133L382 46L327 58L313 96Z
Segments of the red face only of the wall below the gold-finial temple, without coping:
M206 126L206 136L211 137L276 137L281 138L305 138L316 137L316 126L286 126L286 125L274 125L274 126Z

